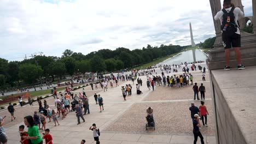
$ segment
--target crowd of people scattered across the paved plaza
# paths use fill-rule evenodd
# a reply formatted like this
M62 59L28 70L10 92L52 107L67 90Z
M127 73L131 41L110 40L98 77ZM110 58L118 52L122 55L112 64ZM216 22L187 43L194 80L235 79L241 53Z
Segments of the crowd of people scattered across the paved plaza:
M196 69L195 65L192 65L194 69ZM118 87L119 81L131 81L131 84L127 84L124 86L121 86L121 93L124 97L124 100L126 100L126 95L131 96L132 95L132 87L135 84L135 81L137 82L136 85L136 94L143 94L141 91L141 87L144 86L142 79L140 79L138 76L147 76L147 87L149 90L153 89L155 86L164 86L164 87L171 87L171 88L182 88L187 87L189 85L193 85L193 91L194 91L194 99L199 99L199 92L201 94L201 99L205 99L205 87L203 86L203 83L201 83L200 87L197 87L197 83L193 83L193 75L189 73L189 68L184 69L184 73L182 75L176 75L175 73L172 76L169 76L167 73L167 76L165 76L165 73L163 70L168 69L168 65L164 65L162 68L161 76L157 75L157 71L155 68L149 68L144 70L132 70L131 74L120 74L118 73L116 76L113 74L102 76L100 79L100 86L103 90L103 92L108 91L108 85L110 85L110 88L113 88L114 84L115 87ZM181 65L175 65L175 67L181 67ZM161 69L161 67L160 67ZM202 70L199 67L200 70ZM193 71L193 70L192 70ZM153 75L154 74L154 75ZM202 71L202 80L205 81L205 68ZM92 83L91 85L92 90L98 89L97 83ZM43 139L46 140L46 143L52 143L53 137L49 134L50 130L47 129L47 124L51 123L51 120L54 122L54 126L58 126L61 124L59 122L59 118L62 115L62 119L65 119L65 117L68 115L69 112L75 111L75 115L77 116L77 124L80 124L80 119L85 122L84 115L90 114L90 108L89 108L89 98L86 95L85 89L82 89L82 92L79 94L74 94L73 92L73 86L66 87L65 94L60 94L59 97L57 95L56 88L53 88L52 91L53 97L55 99L55 106L56 107L50 107L47 104L47 101L44 99L43 102L38 97L37 103L39 105L38 111L34 111L33 116L27 116L24 118L25 125L28 127L28 131L24 131L24 125L20 126L20 134L21 134L21 142L26 143L28 142L36 142L36 143L42 143ZM196 97L197 96L197 97ZM95 103L99 105L100 112L104 111L103 107L103 98L100 94L95 93L94 94ZM22 98L19 98L19 101L22 101ZM28 98L28 101L30 101L30 105L33 105L31 98ZM22 106L22 103L20 104ZM203 105L203 104L202 104ZM200 106L199 109L203 106ZM10 108L10 109L9 109ZM14 117L14 107L13 105L9 104L9 112L11 113L11 119L15 119ZM198 112L201 112L200 110ZM202 110L203 112L203 110ZM148 115L152 116L153 118L153 109L150 107L147 109ZM196 113L195 113L196 114ZM207 116L204 115L204 113L197 113L201 114L203 125L206 125L207 127ZM192 114L191 114L192 115ZM196 124L199 123L198 119L200 116L194 116L193 117L193 123ZM47 119L49 119L48 122ZM204 120L205 119L205 120ZM194 125L195 125L194 124ZM197 126L194 126L196 128ZM37 128L37 129L36 129ZM39 130L44 130L44 135L40 136ZM98 136L100 136L100 130L96 127L96 124L93 124L92 127L90 127L90 130L93 131L93 136L95 141L100 142L98 140ZM4 130L2 130L2 133ZM33 132L32 132L33 131ZM198 135L200 136L200 134ZM85 143L85 140L82 140L81 143Z

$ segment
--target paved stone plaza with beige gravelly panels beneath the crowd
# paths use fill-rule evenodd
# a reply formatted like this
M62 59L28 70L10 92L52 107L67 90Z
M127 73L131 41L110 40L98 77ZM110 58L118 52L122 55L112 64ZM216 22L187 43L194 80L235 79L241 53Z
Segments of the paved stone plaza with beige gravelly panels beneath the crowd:
M159 73L160 74L160 73ZM194 81L201 83L201 73L193 72ZM170 76L172 73L170 74ZM177 75L177 74L176 74ZM101 143L193 143L192 133L193 124L190 118L189 106L193 101L194 95L192 86L183 88L170 88L157 86L155 91L149 91L146 86L146 76L139 76L143 81L141 90L143 94L136 94L136 85L133 85L132 96L127 96L126 101L121 94L121 86L129 84L131 81L120 82L119 87L108 88L103 92L92 91L91 87L86 87L86 95L89 96L90 114L85 115L85 123L77 125L75 112L69 112L65 119L59 119L60 125L54 127L54 123L46 123L46 128L50 129L53 135L53 143L80 143L82 139L86 143L95 143L92 137L92 131L89 127L92 123L101 130ZM201 128L205 143L216 143L214 137L214 119L212 112L212 101L210 97L210 82L208 74L206 81L206 106L210 115L208 116L208 126ZM82 89L75 93L82 92ZM100 112L99 106L95 104L94 93L101 94L104 100L104 111ZM54 99L47 99L50 107L55 109ZM196 106L200 101L196 100ZM155 130L146 130L146 108L152 106L154 109ZM16 119L10 122L10 114L7 111L1 111L0 116L7 115L7 121L4 124L8 135L8 143L19 143L18 127L23 123L23 117L32 115L38 105L16 107ZM40 133L44 133L40 130ZM200 140L197 142L200 143Z

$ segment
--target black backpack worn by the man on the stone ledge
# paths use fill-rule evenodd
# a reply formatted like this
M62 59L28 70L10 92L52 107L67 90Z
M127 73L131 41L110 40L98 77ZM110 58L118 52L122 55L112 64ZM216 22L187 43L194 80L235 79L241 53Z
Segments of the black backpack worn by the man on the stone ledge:
M222 20L222 32L223 33L229 33L233 34L237 31L237 25L235 22L235 16L234 16L234 11L235 7L232 7L229 13L225 10L222 9L223 11L223 20Z

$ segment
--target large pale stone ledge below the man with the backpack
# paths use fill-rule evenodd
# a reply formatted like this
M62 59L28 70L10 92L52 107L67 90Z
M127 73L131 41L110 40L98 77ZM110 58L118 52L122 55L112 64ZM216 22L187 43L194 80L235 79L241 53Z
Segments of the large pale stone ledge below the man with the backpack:
M255 71L211 70L220 143L256 142Z

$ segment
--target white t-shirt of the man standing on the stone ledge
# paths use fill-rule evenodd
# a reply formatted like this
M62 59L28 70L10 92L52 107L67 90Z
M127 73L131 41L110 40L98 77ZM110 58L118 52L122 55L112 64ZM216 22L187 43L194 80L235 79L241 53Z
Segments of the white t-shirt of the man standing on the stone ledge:
M229 11L231 10L231 8L232 8L232 7L227 8L227 9L225 9L225 10L229 13ZM236 25L238 26L238 23L237 23L238 17L245 17L245 15L243 14L243 11L241 11L241 9L240 9L240 8L237 8L237 7L234 9L233 13L234 13L234 16L235 16ZM220 20L220 23L222 23L223 14L224 14L224 13L223 13L222 10L218 11L218 13L216 14L216 16L214 16L214 20L216 20L216 21L217 21L217 20ZM240 34L240 30L239 30L238 27L237 27L236 33L237 33L237 34Z

